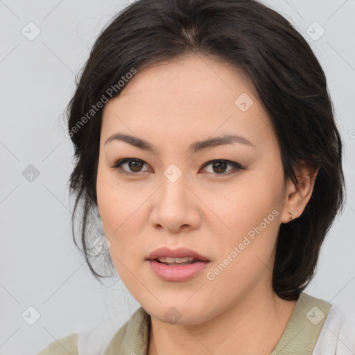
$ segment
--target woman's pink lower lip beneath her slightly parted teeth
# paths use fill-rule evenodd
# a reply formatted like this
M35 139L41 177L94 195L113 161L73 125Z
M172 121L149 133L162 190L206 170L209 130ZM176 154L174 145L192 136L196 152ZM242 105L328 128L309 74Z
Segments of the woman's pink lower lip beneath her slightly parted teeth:
M155 260L148 260L153 271L165 281L185 281L207 268L208 261L197 261L186 265L165 265Z

